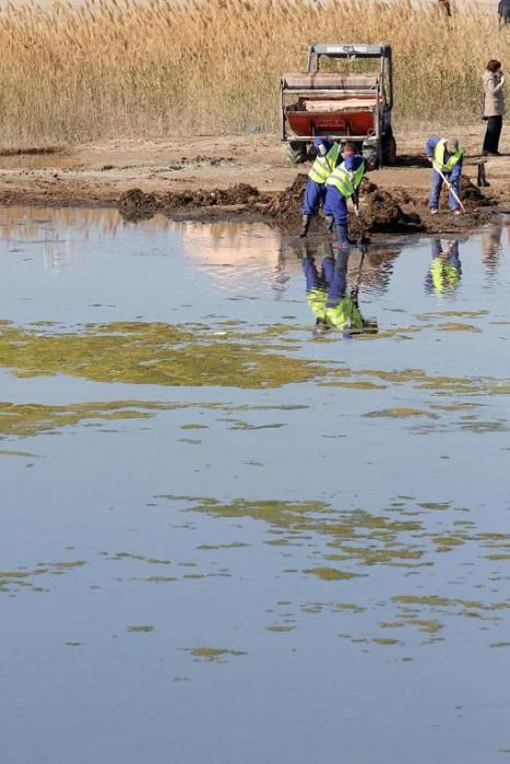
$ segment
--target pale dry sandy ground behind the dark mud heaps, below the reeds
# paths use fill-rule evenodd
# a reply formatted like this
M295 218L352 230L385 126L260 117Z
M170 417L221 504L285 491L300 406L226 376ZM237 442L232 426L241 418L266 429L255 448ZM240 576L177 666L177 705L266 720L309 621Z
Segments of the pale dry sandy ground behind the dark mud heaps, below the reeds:
M467 155L464 172L475 183L484 127L481 122L458 130ZM427 212L430 182L430 169L422 166L423 146L432 132L430 127L398 132L399 165L370 175L379 188L395 193L404 207L420 215ZM501 148L505 152L505 133ZM307 165L288 163L277 135L272 134L119 140L47 154L2 156L0 152L0 204L115 206L133 188L161 194L227 189L236 183L276 194L307 170ZM510 153L488 158L486 175L490 182L486 193L497 200L499 210L509 211Z

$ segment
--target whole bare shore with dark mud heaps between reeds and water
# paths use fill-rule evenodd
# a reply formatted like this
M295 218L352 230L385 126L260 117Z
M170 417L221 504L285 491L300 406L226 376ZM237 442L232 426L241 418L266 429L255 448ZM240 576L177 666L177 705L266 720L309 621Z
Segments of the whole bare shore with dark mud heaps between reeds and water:
M431 218L430 170L422 155L427 132L407 131L399 138L398 165L368 177L364 201L369 231L454 234L510 211L510 154L486 163L490 187L478 189L479 128L465 128L464 133L462 195L467 214L454 218L443 203ZM299 225L307 171L307 165L289 165L276 135L264 134L122 140L51 151L25 147L0 152L0 204L117 207L132 222L154 214L203 223L265 222L292 234ZM310 235L321 230L319 218Z

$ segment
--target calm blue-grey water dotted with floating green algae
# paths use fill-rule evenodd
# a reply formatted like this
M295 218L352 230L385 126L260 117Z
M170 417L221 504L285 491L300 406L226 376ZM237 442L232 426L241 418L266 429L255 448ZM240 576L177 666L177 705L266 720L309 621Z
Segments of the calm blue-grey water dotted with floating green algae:
M0 212L2 761L510 755L509 230Z

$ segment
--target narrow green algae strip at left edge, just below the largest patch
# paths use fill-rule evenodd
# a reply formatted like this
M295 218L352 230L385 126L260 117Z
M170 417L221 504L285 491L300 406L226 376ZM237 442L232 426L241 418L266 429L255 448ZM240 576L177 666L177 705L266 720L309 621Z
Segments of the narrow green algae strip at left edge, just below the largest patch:
M73 427L85 420L146 419L166 408L164 403L143 401L112 401L109 403L80 403L68 406L43 404L13 404L0 402L0 438L31 437Z

